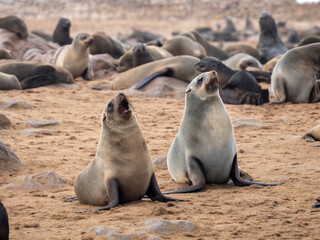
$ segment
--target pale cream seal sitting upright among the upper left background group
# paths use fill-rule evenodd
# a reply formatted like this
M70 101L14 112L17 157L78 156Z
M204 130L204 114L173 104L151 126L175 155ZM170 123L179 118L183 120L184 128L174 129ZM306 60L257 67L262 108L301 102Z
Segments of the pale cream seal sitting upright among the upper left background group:
M65 45L55 53L53 63L66 68L74 78L82 76L90 80L94 75L89 56L92 41L89 34L79 33L71 45Z

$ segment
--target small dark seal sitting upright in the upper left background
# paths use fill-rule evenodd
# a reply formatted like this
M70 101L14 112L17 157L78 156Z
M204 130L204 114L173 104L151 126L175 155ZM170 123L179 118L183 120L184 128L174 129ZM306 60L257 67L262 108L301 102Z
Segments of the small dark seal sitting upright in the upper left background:
M53 31L52 41L58 43L60 46L64 46L72 43L70 37L71 22L67 18L60 18L56 28Z

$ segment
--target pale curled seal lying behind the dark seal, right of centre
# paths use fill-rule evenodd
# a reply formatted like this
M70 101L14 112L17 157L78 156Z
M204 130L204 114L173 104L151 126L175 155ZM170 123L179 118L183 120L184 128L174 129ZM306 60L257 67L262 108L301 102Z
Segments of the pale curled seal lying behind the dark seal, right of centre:
M254 67L262 70L260 62L246 53L237 53L222 62L232 70L244 70L247 67Z

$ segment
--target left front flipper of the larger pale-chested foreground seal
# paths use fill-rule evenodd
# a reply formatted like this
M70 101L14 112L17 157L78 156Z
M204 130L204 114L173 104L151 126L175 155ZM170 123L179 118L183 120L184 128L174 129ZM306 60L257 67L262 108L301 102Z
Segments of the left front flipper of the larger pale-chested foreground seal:
M192 182L192 186L189 188L183 188L178 190L173 190L170 192L165 192L164 194L176 194L176 193L191 193L198 192L204 188L206 180L203 173L203 166L195 158L188 158L187 160L187 169L189 180Z

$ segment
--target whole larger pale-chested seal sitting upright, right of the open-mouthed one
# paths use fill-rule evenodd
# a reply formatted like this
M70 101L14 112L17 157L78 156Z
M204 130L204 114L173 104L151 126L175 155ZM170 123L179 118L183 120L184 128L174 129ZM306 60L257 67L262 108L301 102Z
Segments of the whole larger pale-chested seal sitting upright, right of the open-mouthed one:
M199 191L206 183L224 184L230 178L237 186L276 185L240 177L233 127L218 89L219 76L212 71L197 76L186 90L185 111L167 163L176 182L192 187L169 193Z

